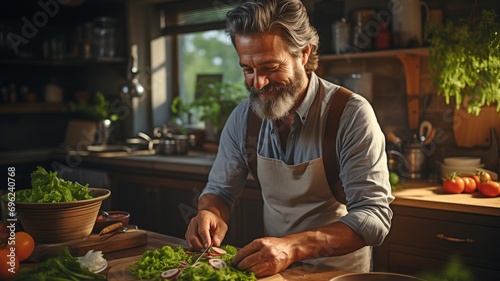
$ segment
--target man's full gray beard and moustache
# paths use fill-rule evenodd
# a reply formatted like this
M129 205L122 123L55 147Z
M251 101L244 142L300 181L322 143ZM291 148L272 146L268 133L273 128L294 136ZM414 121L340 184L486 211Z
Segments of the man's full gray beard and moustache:
M250 104L257 116L261 119L280 120L288 115L297 101L303 84L301 73L298 71L295 73L294 82L287 85L267 85L257 90L245 83L247 90L250 92ZM266 94L273 91L279 94L259 97L261 93Z

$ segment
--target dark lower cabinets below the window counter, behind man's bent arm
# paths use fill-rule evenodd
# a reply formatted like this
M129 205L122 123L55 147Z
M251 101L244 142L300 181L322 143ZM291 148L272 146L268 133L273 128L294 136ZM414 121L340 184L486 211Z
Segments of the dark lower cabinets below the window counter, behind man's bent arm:
M140 228L184 238L207 177L146 175L117 172L112 184L112 207L131 213ZM251 184L250 184L251 185ZM244 246L263 235L260 190L248 187L236 203L224 244Z

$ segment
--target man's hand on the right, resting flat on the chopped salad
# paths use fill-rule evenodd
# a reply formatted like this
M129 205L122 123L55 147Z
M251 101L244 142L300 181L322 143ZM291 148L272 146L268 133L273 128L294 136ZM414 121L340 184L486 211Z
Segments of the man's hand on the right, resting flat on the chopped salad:
M256 239L238 250L233 264L240 270L253 271L259 277L276 274L295 261L293 248L287 238Z

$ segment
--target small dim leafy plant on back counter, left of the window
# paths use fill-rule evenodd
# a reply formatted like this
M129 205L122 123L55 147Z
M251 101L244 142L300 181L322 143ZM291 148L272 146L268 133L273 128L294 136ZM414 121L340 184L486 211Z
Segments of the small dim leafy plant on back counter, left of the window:
M111 121L118 120L118 114L111 110L109 101L102 92L96 92L94 98L90 102L79 101L70 104L72 111L81 112L86 118L100 121L109 119Z

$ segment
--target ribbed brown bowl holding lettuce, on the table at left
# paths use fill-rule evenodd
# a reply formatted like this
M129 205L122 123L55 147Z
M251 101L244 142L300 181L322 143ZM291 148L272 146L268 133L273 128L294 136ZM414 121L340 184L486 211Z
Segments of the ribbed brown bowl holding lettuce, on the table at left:
M58 203L16 202L23 228L36 242L63 243L87 237L94 228L102 201L111 191L89 188L92 199Z

